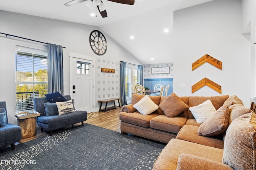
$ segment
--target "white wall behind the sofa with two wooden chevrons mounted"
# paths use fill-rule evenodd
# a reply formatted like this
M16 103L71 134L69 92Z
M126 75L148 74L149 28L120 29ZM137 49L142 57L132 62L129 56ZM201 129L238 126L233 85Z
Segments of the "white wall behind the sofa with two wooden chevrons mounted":
M178 96L236 95L250 107L250 42L242 35L241 0L214 0L174 12L174 92ZM222 61L222 70L192 63L208 54ZM204 77L222 94L204 86L191 87ZM186 87L180 87L186 82Z

